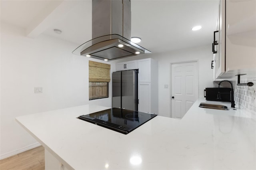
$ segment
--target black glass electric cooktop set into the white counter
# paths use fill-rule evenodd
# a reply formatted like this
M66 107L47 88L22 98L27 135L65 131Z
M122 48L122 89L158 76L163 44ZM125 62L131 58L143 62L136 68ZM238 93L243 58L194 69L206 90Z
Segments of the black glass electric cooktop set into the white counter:
M78 119L128 134L154 117L156 115L150 113L112 108L88 115L81 115Z

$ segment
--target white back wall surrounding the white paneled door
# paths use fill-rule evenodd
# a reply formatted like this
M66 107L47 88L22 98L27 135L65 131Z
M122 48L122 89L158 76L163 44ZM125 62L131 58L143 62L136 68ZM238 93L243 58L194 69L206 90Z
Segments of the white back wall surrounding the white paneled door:
M204 89L213 87L213 72L211 69L212 49L211 44L192 47L188 49L179 49L167 53L151 53L138 55L135 57L119 59L115 62L128 60L153 58L158 60L158 115L170 117L170 63L180 61L198 60L199 70L199 97L204 97ZM168 89L164 89L168 85Z

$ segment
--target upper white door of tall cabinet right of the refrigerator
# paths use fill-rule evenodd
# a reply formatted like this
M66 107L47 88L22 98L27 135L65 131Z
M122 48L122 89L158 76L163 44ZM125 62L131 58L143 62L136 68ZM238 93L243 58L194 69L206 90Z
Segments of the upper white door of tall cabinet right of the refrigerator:
M140 82L150 82L151 81L151 60L140 59L138 60L139 68L139 81Z

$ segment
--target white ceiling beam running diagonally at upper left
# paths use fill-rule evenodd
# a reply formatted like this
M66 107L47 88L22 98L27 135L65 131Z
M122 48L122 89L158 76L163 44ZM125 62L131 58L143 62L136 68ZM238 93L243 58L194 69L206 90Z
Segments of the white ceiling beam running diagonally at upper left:
M52 24L63 20L69 10L75 5L75 1L70 0L54 0L42 12L36 16L34 20L26 28L26 36L29 38L36 38Z

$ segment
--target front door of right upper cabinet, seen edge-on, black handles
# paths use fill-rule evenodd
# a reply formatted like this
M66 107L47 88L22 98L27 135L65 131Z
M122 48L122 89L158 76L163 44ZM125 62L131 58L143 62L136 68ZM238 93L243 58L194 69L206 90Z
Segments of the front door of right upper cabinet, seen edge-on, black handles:
M215 77L216 79L225 73L225 0L220 0L218 17L217 53L215 55Z

